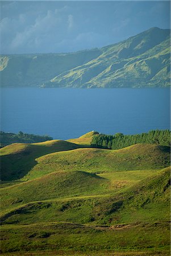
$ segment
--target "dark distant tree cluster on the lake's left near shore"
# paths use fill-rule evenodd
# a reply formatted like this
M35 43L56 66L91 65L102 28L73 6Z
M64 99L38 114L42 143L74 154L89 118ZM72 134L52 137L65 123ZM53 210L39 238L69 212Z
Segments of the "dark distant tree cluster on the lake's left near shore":
M4 147L12 143L36 143L50 141L52 139L53 138L49 137L48 135L39 136L22 133L22 131L19 131L18 134L4 133L3 131L0 131L0 147Z

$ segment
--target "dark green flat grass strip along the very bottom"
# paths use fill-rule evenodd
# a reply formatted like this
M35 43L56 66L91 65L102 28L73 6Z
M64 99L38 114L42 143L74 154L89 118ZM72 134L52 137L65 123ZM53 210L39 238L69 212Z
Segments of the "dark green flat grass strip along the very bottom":
M16 251L36 253L36 250L48 253L51 250L52 255L109 255L127 251L132 252L130 255L139 255L137 251L148 251L145 255L169 255L169 243L165 240L165 234L169 235L168 224L141 224L110 229L55 222L45 225L9 225L9 228L2 228L2 232L4 240L1 250L7 251L7 245L11 254Z

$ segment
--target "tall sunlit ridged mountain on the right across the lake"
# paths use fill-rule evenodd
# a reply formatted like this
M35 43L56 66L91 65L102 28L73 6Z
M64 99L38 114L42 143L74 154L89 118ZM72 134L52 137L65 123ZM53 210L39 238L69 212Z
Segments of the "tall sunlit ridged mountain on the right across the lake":
M151 28L102 51L96 59L61 73L51 82L84 88L169 86L169 30Z

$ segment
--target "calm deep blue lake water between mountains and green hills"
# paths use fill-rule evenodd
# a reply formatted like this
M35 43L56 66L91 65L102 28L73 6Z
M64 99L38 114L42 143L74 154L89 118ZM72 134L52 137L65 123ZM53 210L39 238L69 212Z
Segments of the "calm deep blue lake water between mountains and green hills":
M170 88L1 89L1 130L55 139L170 129Z

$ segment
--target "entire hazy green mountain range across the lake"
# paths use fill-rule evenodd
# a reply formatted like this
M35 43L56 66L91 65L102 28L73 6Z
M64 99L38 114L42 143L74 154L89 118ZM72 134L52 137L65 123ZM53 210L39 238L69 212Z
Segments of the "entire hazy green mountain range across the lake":
M170 85L170 30L76 53L1 56L1 86L114 88Z

